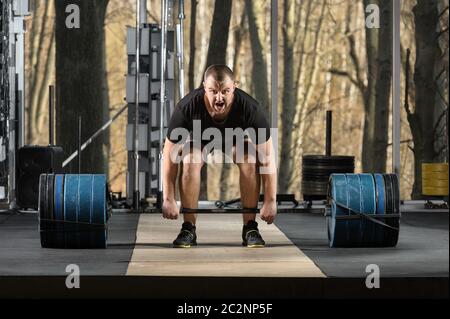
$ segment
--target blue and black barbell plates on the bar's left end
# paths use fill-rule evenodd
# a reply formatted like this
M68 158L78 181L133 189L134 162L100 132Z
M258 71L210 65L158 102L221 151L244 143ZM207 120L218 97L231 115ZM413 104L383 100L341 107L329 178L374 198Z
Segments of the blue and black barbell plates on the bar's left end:
M105 175L42 174L39 230L43 248L106 248Z

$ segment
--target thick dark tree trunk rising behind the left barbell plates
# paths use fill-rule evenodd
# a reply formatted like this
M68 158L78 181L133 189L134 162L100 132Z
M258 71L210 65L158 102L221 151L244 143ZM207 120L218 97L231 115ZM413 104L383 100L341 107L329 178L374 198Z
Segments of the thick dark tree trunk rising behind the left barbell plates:
M69 4L80 8L79 29L66 27ZM55 0L56 132L65 155L77 148L79 116L83 120L82 141L101 127L105 118L107 4L108 0ZM81 172L105 173L105 155L104 140L95 140L81 154Z

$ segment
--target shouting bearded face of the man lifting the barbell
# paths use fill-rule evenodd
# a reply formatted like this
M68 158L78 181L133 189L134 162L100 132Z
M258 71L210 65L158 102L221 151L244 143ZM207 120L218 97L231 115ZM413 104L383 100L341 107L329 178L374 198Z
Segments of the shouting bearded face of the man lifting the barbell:
M228 114L234 98L235 83L226 77L222 83L209 76L203 82L205 88L206 107L212 118L221 119Z

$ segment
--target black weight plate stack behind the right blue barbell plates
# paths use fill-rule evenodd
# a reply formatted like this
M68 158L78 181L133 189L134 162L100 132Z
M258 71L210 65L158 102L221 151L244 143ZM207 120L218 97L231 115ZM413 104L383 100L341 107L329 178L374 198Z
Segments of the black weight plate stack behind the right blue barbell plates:
M353 173L353 156L305 155L302 162L302 194L306 201L327 198L328 180L333 173Z

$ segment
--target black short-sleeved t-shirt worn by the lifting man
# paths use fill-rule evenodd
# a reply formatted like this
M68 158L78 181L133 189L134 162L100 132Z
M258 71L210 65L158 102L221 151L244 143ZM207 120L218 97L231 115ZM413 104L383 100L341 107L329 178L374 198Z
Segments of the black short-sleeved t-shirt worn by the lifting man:
M220 132L222 146L225 145L225 140L231 141L230 138L235 144L236 139L242 136L242 134L239 135L241 130L245 131L244 135L255 144L264 143L270 138L270 126L262 107L258 101L244 91L235 89L230 113L221 123L215 122L209 115L204 97L204 88L198 88L177 104L170 118L167 132L167 138L171 142L178 143L185 142L187 138L191 140L200 138L201 143L205 145L213 139L214 135L211 136L210 133L214 131ZM177 128L182 130L177 130ZM232 130L234 134L230 134ZM183 131L189 132L189 134L186 136Z

